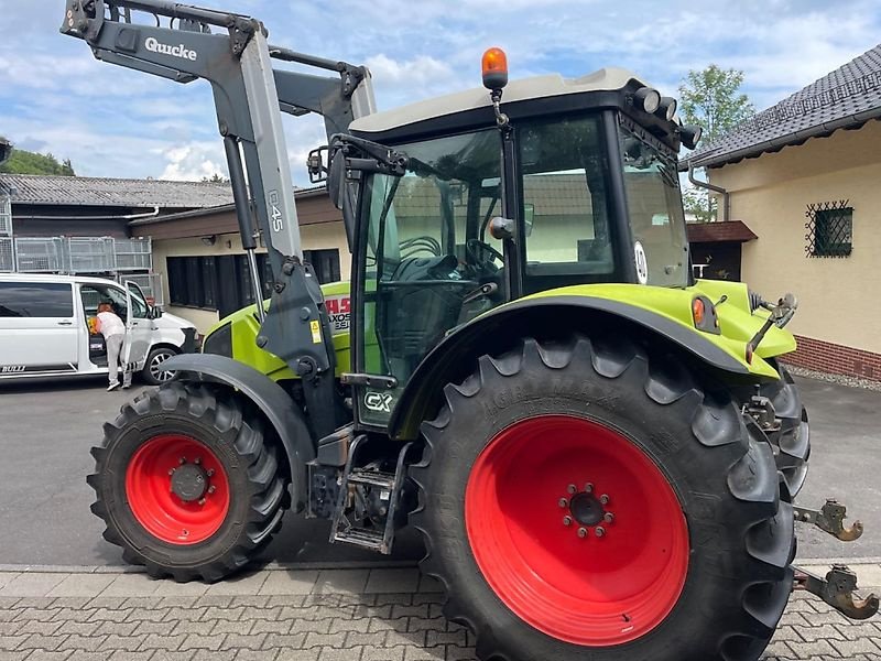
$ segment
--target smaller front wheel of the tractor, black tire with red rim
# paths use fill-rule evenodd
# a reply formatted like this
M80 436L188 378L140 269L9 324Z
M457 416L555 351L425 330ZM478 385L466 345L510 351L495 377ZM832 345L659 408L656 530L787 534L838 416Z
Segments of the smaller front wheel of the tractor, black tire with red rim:
M286 480L261 420L205 386L141 394L105 425L91 454L87 481L104 537L152 576L219 581L281 524Z

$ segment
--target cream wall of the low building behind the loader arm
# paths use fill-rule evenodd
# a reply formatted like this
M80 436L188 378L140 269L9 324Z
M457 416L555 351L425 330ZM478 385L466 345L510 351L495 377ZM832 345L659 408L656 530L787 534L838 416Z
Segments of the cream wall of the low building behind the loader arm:
M143 235L146 232L141 234ZM209 236L216 237L214 245L206 243L200 237L153 240L153 270L162 274L163 296L166 302L171 300L168 294L168 269L166 262L168 257L219 257L244 253L238 234ZM351 260L346 243L346 230L341 221L305 225L301 227L301 236L304 250L338 249L340 278L342 280L349 279ZM259 248L258 252L265 252L265 249ZM202 334L205 334L219 321L218 313L211 310L181 307L166 304L165 311L192 322Z

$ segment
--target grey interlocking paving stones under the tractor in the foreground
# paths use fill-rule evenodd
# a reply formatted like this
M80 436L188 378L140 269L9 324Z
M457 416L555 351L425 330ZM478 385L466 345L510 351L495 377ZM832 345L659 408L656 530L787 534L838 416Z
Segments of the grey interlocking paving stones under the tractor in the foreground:
M0 572L0 661L474 659L471 633L440 603L413 568L264 570L215 585ZM881 659L881 621L852 622L796 594L764 660L826 659Z

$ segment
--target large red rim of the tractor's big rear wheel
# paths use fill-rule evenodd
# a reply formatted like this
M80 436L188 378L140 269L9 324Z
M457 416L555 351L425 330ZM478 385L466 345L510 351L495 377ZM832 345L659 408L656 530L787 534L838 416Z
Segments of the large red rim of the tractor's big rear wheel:
M670 615L685 585L688 528L670 483L596 422L548 415L497 434L468 478L465 520L498 597L558 640L635 640Z

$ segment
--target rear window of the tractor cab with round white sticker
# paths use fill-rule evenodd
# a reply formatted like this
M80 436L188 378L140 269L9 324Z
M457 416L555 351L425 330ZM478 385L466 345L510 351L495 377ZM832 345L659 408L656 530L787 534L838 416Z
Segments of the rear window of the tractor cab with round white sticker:
M623 127L621 154L638 275L643 284L686 286L688 241L676 166Z

